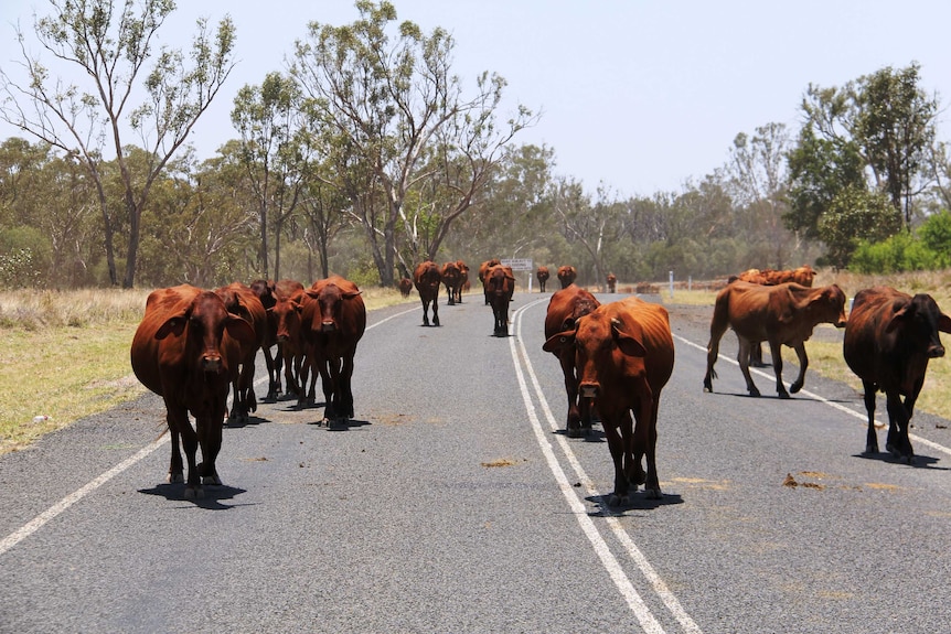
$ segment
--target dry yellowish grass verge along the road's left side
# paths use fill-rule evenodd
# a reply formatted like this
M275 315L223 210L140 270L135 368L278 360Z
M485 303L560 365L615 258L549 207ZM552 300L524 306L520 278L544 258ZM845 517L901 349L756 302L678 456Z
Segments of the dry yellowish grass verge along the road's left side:
M129 344L150 290L0 292L0 454L145 391ZM363 297L367 310L412 300L378 288Z

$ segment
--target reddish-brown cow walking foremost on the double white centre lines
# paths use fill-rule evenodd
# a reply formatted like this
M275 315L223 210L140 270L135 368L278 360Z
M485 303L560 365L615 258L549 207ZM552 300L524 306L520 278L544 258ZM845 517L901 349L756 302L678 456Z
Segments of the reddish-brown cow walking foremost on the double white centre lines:
M608 505L626 504L630 486L637 490L640 484L649 498L660 499L658 410L674 367L667 311L635 297L602 304L543 347L574 351L580 396L594 399L615 463L615 491Z

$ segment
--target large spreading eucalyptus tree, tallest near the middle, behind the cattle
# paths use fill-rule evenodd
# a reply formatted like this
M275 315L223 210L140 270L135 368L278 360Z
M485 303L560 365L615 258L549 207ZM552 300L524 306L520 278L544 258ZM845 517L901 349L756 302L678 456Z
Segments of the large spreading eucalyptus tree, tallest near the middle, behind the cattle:
M307 37L296 43L291 73L332 136L336 150L330 155L351 168L357 163L363 180L380 191L367 198L365 191L340 183L364 226L381 283L389 286L400 232L410 250L421 250L415 232L420 221L435 222L428 252L420 254L435 257L449 226L484 186L501 149L534 119L520 106L498 122L505 82L495 74L483 73L474 93L464 94L451 73L456 43L446 30L425 34L404 21L391 39L388 28L397 19L391 2L357 0L356 9L360 19L352 24L311 22ZM348 176L341 169L334 178ZM432 197L407 208L413 190ZM383 208L363 207L380 203Z

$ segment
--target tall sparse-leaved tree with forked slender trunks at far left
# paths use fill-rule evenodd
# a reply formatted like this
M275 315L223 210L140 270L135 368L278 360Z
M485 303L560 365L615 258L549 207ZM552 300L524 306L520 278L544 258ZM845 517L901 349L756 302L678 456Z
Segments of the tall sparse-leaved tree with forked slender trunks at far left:
M149 191L233 68L234 26L225 18L212 33L207 21L199 20L186 62L181 50L156 51L153 42L175 8L172 0L126 0L119 7L113 0L50 4L52 13L36 19L34 32L62 75L29 52L18 29L21 73L0 68L0 118L82 162L97 189L113 284L119 283L116 227L126 225L121 284L130 288ZM83 86L73 78L82 78ZM138 184L127 165L129 136L150 155L148 173ZM124 218L110 212L103 187L101 165L108 160L115 160L121 173Z

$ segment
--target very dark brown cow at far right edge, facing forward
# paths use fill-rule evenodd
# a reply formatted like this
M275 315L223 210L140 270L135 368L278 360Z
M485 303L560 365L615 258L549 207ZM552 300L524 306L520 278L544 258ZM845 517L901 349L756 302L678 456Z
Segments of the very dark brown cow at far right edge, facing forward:
M951 333L951 318L929 294L911 297L889 287L856 293L842 348L845 363L862 379L865 390L866 453L878 453L875 395L881 390L888 410L885 449L909 464L913 460L908 426L925 384L928 361L944 356L939 331Z

